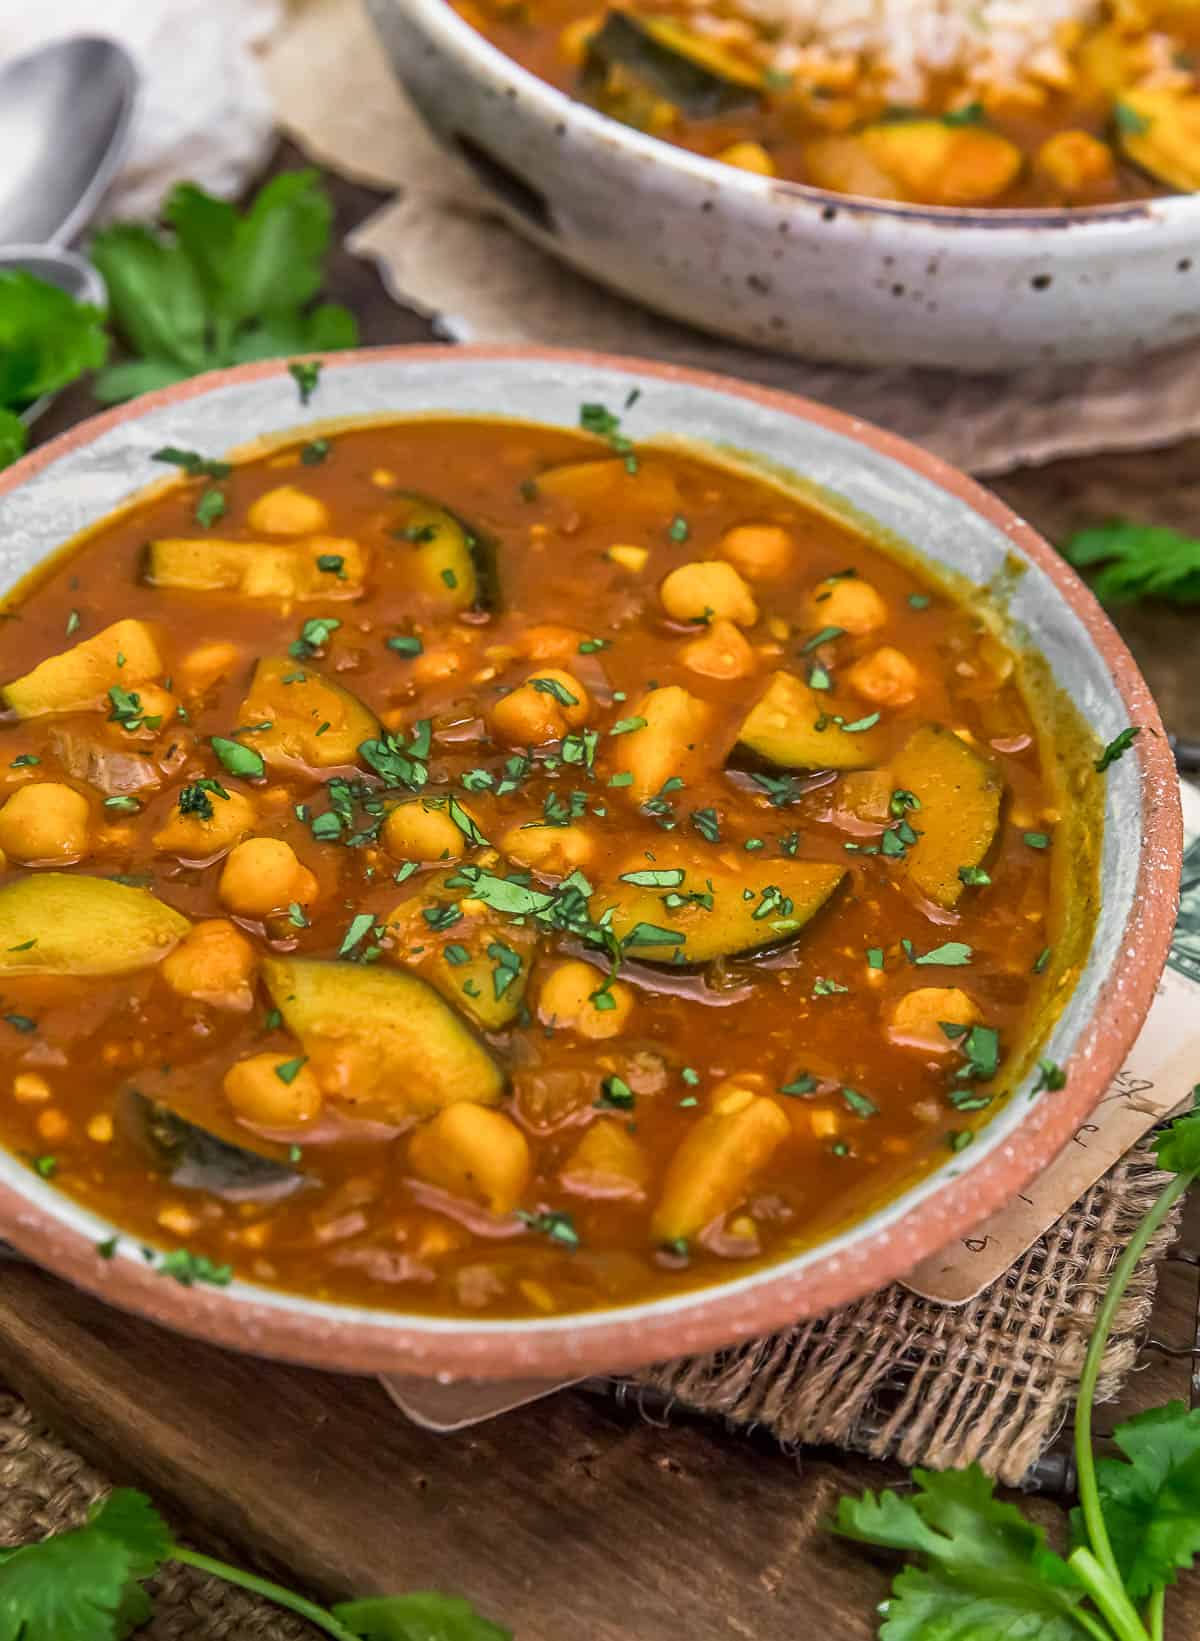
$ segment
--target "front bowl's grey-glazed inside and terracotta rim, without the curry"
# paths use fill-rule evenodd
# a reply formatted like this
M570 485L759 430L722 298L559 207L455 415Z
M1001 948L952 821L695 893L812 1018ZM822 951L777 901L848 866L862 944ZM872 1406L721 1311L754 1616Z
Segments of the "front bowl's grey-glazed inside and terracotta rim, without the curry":
M343 417L424 412L575 427L581 402L624 404L634 387L634 437L670 432L755 453L847 499L913 543L934 573L1006 576L1015 630L1095 734L1110 740L1126 724L1143 727L1103 781L1100 916L1079 983L1041 1045L1067 1068L1067 1086L1039 1098L1018 1088L965 1152L818 1247L719 1287L583 1316L440 1321L246 1282L182 1288L133 1244L100 1259L112 1226L5 1154L0 1237L115 1305L245 1351L447 1378L573 1377L753 1337L882 1287L1010 1201L1088 1116L1146 1016L1170 940L1182 847L1170 752L1128 650L1057 553L987 491L891 433L785 394L635 359L473 348L335 354L309 410L281 363L248 364L95 417L0 474L0 586L156 479L151 453L163 445L215 456L297 423L310 432ZM1013 558L1023 574L1011 574ZM584 609L586 589L581 599Z

